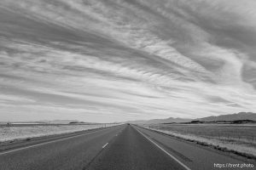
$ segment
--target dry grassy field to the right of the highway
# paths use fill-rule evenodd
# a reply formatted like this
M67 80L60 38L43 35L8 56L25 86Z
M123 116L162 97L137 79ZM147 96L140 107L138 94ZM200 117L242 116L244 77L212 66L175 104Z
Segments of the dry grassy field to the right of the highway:
M256 157L256 126L253 125L144 125L181 139L211 145L218 150Z

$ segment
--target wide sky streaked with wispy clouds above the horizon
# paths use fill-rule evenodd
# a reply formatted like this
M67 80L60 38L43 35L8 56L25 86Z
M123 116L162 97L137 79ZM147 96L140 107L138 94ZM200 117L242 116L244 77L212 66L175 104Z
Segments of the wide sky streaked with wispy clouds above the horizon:
M0 122L256 111L255 0L1 0Z

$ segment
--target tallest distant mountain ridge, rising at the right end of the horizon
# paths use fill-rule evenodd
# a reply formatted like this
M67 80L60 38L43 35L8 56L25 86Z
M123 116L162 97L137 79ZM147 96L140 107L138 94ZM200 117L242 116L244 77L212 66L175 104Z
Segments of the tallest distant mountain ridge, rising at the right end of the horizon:
M230 115L221 116L207 116L199 119L195 119L201 122L217 122L217 121L237 121L237 120L252 120L256 121L256 113L252 112L239 112Z

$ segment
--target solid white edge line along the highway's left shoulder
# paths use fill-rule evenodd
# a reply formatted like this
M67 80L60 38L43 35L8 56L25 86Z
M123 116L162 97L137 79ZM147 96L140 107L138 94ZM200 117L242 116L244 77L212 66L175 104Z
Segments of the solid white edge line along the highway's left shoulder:
M101 132L103 130L107 130L107 129L98 130L98 131L92 132L92 133L98 133L98 132ZM44 143L41 143L41 144L32 144L30 146L26 146L26 147L23 147L23 148L0 152L0 156L3 156L4 154L9 154L11 152L19 151L19 150L26 150L28 148L33 148L33 147L44 145L44 144L50 144L50 143L55 143L55 142L59 142L59 141L62 141L62 140L73 139L73 138L83 136L83 135L88 135L88 134L91 134L91 133L78 134L78 135L67 137L67 138L64 138L64 139L56 139L56 140L52 140L52 141L49 141L49 142L44 142Z

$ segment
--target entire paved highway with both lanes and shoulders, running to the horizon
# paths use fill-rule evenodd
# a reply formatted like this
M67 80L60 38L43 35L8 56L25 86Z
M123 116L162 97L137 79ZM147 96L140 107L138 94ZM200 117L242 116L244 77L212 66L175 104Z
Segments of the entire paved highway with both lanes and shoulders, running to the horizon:
M1 170L211 170L214 163L244 162L250 161L134 125L0 152Z

